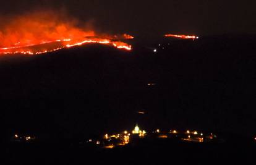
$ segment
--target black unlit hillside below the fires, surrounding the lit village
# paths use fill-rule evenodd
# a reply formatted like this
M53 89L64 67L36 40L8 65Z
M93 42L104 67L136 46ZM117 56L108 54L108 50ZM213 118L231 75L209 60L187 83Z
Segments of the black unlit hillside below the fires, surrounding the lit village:
M87 45L40 56L1 57L6 162L254 164L255 44L255 36L211 36L138 40L132 52ZM241 138L114 150L81 147L74 140L131 130L136 123L145 130L198 129ZM15 133L48 140L10 143Z

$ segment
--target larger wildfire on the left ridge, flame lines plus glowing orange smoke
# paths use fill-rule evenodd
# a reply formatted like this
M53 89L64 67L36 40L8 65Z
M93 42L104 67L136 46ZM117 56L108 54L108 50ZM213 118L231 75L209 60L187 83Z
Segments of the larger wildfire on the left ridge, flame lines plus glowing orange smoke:
M120 37L122 36L122 37ZM130 50L129 44L113 41L130 35L98 35L90 25L53 11L33 12L6 21L0 28L0 54L41 54L85 43L110 44ZM54 43L54 44L51 44Z

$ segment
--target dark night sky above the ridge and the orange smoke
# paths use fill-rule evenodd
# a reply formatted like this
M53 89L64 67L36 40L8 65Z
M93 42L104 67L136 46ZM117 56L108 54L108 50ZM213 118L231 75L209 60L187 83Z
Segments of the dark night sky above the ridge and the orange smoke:
M256 1L166 0L1 1L2 16L31 9L66 9L80 20L93 20L105 32L133 35L256 33Z

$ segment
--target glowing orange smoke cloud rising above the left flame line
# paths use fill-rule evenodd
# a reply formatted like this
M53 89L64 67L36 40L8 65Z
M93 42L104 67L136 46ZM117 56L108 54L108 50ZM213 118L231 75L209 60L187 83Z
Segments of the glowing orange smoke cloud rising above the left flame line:
M0 48L95 36L91 23L63 11L33 11L0 20Z

